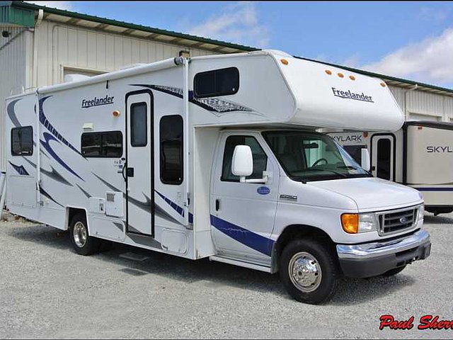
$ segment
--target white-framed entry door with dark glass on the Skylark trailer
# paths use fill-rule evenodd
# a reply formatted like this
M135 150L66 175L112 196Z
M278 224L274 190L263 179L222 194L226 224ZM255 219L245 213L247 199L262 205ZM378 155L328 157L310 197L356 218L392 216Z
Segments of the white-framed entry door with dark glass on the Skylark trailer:
M380 179L395 180L395 136L373 135L372 174Z

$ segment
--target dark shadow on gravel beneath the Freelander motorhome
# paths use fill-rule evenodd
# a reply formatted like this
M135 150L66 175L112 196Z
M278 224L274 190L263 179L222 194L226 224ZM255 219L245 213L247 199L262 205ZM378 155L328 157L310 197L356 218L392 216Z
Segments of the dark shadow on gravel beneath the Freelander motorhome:
M24 242L43 244L56 249L67 249L76 256L71 248L68 232L44 225L17 225L17 227L8 227L8 234ZM133 261L120 256L125 253L146 256L147 259ZM144 280L146 280L147 274L151 273L181 280L184 283L200 283L210 288L234 286L246 290L272 293L287 299L291 298L280 283L278 274L270 275L226 263L211 262L208 259L192 261L125 244L112 244L109 250L93 256L99 261L107 261L122 266L123 268L119 270L123 273L142 276ZM76 257L74 257L74 261L76 261ZM402 290L413 283L415 283L415 279L405 275L404 272L391 278L342 278L336 295L328 304L355 305L361 302L369 302L383 295Z

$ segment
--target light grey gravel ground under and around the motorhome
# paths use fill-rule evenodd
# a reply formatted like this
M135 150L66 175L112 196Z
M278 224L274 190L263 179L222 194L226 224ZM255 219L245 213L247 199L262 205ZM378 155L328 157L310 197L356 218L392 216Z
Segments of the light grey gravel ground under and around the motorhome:
M453 214L425 216L432 253L393 278L344 279L326 305L292 300L277 275L117 244L79 256L67 232L0 223L0 338L448 338L418 331L453 319ZM144 261L122 257L133 252ZM408 331L379 316L415 317Z

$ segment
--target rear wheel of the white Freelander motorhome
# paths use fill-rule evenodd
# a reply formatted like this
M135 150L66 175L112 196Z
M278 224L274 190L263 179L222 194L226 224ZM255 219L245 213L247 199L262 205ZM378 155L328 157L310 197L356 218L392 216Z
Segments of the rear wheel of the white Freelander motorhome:
M101 244L99 239L88 235L86 217L80 213L72 217L69 237L76 253L84 256L96 253Z

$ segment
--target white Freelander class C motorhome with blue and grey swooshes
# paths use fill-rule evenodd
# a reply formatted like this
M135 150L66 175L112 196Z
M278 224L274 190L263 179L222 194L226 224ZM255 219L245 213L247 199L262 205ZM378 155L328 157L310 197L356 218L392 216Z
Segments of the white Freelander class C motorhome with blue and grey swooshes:
M284 52L181 57L7 99L7 206L101 240L268 273L327 300L341 275L430 254L423 199L316 128L397 130L379 79Z

